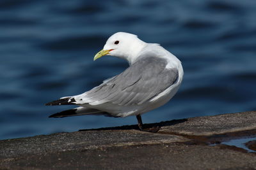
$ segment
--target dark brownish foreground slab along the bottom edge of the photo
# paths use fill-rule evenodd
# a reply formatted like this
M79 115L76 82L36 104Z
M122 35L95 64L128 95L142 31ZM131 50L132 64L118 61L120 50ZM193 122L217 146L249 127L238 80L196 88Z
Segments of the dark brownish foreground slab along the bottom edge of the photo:
M253 169L252 153L219 146L138 145L70 150L5 159L10 169Z

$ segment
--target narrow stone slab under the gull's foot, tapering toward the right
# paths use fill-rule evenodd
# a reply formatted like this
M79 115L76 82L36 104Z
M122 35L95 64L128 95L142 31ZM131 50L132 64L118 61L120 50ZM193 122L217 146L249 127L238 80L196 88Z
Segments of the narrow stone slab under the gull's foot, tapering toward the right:
M0 141L0 158L67 150L88 150L110 146L152 145L188 141L188 139L157 133L131 131L61 132L31 138Z

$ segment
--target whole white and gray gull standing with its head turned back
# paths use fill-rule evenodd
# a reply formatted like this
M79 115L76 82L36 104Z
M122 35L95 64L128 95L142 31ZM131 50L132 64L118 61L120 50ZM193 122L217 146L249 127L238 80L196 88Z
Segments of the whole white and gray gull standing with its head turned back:
M93 60L104 55L125 59L129 67L83 94L61 97L45 104L79 106L49 117L134 115L141 131L159 131L159 127L153 130L143 128L141 115L163 106L176 94L184 74L180 60L159 44L146 43L127 32L116 32L110 36Z

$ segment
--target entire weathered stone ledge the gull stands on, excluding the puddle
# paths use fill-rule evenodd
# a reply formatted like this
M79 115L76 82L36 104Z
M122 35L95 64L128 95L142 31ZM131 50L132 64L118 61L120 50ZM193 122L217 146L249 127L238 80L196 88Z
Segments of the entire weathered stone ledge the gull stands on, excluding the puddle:
M208 139L255 135L256 112L0 141L0 169L256 169L256 154ZM150 125L148 125L150 126ZM228 135L227 135L228 134Z

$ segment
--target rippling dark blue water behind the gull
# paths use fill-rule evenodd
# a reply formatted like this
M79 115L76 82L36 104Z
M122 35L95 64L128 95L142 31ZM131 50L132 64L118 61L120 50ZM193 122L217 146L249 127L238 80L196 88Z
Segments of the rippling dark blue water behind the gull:
M160 43L184 67L152 123L256 110L256 1L0 1L0 139L136 124L135 117L47 118L70 106L44 106L80 94L127 63L93 56L111 34ZM256 115L255 115L256 116Z

